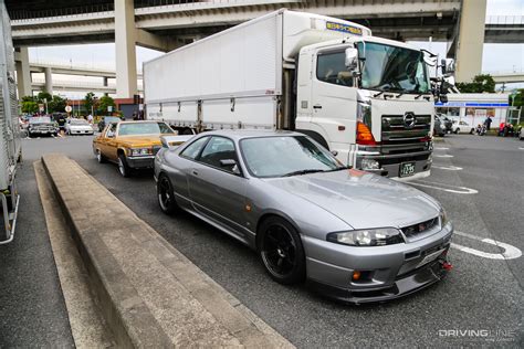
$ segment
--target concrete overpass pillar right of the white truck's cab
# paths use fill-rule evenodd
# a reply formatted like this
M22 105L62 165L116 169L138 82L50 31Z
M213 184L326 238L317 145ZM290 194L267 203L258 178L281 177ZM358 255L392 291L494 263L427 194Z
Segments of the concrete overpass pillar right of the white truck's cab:
M458 83L470 83L482 72L486 0L463 0L457 45Z

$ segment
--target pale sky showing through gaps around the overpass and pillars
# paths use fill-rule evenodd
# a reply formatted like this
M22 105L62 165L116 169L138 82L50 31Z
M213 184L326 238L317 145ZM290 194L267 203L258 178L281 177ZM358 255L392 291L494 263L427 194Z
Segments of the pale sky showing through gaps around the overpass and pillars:
M486 17L490 15L524 15L524 0L488 0ZM412 44L446 56L446 42L412 42ZM142 64L161 55L161 52L145 47L136 47L137 70ZM98 67L115 70L115 44L84 44L64 46L40 46L29 49L30 62L52 63L60 65ZM484 44L482 56L483 72L522 72L524 71L523 44ZM101 83L99 77L53 76L55 81L83 78L86 82ZM33 74L34 80L43 81L43 74ZM109 84L112 81L109 81ZM509 87L521 87L522 84ZM59 93L59 92L57 92ZM81 98L83 93L62 92L69 98Z

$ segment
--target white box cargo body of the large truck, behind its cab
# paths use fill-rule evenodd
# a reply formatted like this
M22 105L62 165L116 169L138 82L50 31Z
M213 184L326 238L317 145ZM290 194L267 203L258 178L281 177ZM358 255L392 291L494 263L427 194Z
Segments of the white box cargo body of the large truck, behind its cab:
M144 63L146 117L202 129L286 128L279 120L285 64L305 45L348 35L329 23L370 35L347 21L280 10Z

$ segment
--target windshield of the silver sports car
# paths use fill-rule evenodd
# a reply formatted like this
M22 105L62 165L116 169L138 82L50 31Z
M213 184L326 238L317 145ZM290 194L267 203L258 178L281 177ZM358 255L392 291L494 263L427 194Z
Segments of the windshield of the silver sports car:
M329 151L306 136L245 138L240 150L255 177L286 177L345 169Z

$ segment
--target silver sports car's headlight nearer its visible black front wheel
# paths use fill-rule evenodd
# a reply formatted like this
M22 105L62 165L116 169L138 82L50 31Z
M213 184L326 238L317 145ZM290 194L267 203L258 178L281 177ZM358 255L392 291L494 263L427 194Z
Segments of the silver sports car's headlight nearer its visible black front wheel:
M363 229L327 234L327 241L350 246L385 246L404 242L395 228Z

